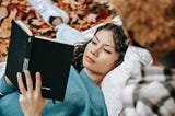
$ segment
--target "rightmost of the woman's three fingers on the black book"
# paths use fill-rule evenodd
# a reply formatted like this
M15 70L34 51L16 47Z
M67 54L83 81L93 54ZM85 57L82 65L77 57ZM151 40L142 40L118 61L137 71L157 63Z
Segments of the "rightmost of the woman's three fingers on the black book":
M39 72L36 72L36 83L35 83L35 90L39 93L42 93L42 77Z

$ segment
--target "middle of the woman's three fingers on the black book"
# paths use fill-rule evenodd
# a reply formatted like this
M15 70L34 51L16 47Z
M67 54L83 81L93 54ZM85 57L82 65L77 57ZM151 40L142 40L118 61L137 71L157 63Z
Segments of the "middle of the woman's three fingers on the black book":
M25 70L24 71L25 73L25 78L26 78L26 88L28 91L33 91L33 81L32 81L32 78L31 78L31 73L28 70Z

